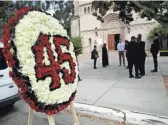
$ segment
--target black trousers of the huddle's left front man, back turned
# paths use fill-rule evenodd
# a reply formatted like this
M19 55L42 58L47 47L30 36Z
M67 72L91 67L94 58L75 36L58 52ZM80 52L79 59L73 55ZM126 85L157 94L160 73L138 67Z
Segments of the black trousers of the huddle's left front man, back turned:
M129 68L129 75L132 76L132 68L135 68L135 76L138 76L139 75L139 72L138 72L138 64L137 62L135 61L132 61L132 60L129 60L129 63L128 63L128 68Z

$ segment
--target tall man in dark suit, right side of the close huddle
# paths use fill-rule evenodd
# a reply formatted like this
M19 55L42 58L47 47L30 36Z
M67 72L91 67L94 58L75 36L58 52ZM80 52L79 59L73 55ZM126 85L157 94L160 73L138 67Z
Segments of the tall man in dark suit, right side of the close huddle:
M142 41L142 35L138 34L137 36L137 43L138 43L138 68L140 71L141 76L145 75L145 59L146 59L146 52L145 52L145 42Z

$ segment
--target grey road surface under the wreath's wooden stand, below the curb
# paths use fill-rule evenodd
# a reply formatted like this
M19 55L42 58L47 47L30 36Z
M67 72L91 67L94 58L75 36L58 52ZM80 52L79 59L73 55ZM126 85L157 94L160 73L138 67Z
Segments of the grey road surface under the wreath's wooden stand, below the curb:
M69 107L54 115L56 125L74 125ZM78 113L80 125L120 125L115 121L96 118ZM0 125L27 125L28 105L24 100L18 101L13 108L0 109ZM33 112L33 125L48 125L46 114Z

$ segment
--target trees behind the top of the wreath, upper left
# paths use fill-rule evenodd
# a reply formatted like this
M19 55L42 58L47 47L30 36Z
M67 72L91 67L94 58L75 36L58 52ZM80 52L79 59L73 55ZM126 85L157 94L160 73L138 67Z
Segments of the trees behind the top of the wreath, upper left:
M45 12L52 10L53 17L58 19L67 30L68 35L70 35L70 19L73 15L73 1L0 1L0 4L0 36L8 19L14 15L17 10L25 6L31 9L40 9Z

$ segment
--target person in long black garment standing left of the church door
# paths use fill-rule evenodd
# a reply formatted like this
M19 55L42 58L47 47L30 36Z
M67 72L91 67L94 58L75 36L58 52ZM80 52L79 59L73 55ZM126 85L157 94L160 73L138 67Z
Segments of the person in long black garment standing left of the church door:
M109 65L106 43L104 43L102 47L102 65L104 68Z

